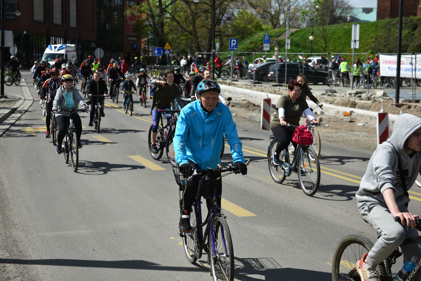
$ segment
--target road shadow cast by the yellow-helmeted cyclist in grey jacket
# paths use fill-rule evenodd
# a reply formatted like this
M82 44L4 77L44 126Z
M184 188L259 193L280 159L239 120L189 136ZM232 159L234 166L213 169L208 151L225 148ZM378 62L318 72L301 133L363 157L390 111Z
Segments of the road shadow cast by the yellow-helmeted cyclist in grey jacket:
M77 172L85 175L104 175L108 172L144 169L141 165L114 164L108 162L79 161Z

